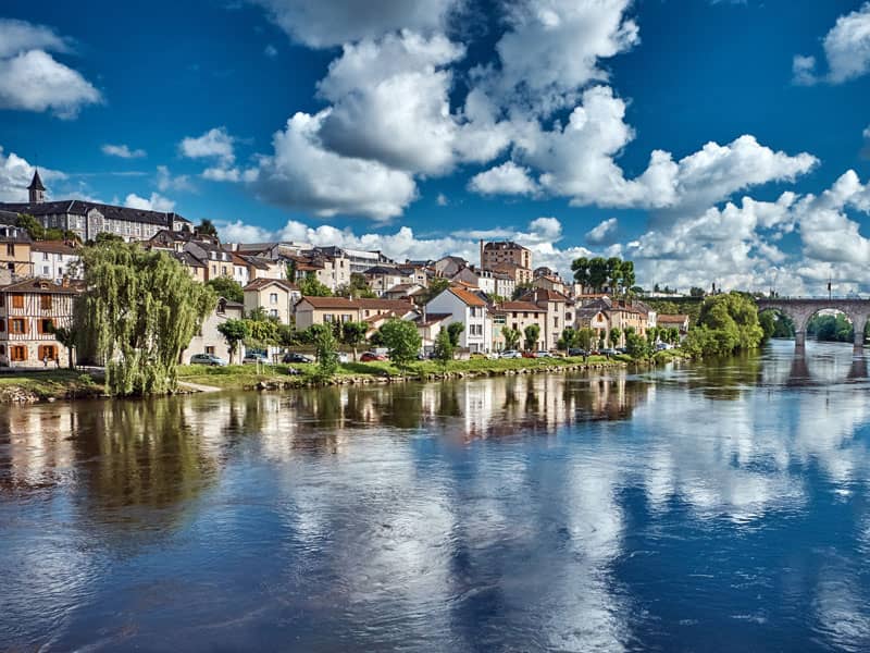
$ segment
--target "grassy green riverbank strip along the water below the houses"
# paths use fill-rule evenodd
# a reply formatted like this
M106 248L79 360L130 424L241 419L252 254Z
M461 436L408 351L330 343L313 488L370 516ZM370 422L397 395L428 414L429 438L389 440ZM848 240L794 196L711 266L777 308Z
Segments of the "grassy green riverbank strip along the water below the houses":
M489 360L472 358L452 360L447 366L436 361L418 361L400 370L388 361L347 362L336 373L323 379L313 364L227 367L182 366L178 368L177 394L209 390L286 390L323 385L399 383L437 381L511 374L584 371L638 365L629 356L606 358L515 358ZM648 364L647 364L648 365ZM0 374L0 404L51 402L105 396L100 382L89 373L74 370L34 370Z

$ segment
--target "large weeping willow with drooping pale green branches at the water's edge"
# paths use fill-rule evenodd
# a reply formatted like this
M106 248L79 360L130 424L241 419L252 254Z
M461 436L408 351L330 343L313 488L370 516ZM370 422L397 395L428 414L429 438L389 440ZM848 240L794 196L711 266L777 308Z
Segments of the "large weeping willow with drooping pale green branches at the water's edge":
M216 298L165 252L105 242L82 255L87 291L75 311L79 347L107 361L112 395L175 387L178 359Z

